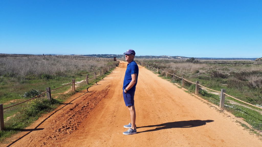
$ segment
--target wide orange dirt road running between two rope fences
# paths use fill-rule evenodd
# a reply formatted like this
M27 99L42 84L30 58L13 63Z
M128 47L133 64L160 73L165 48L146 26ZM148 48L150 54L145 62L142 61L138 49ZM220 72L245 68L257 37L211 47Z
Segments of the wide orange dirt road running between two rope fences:
M122 98L126 62L98 85L78 92L55 111L1 146L262 146L232 115L139 66L137 134Z

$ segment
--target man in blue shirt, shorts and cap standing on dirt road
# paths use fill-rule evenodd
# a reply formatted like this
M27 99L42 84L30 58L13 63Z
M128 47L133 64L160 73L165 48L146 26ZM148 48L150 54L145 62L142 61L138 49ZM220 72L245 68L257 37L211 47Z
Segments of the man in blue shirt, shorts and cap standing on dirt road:
M131 135L137 133L137 127L135 125L135 105L134 95L135 86L137 85L138 79L138 65L135 63L135 51L132 49L127 50L125 54L125 61L127 61L127 70L125 71L124 83L123 83L123 97L125 106L128 106L130 111L131 123L124 125L125 128L129 128L123 132L124 135Z

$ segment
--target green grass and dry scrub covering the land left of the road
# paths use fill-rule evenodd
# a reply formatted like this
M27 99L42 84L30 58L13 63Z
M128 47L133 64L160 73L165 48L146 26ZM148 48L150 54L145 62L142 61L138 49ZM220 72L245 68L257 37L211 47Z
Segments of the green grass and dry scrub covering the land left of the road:
M46 91L46 87L55 89L63 84L80 82L85 79L86 74L89 77L102 71L110 74L108 66L118 64L118 61L100 61L100 60L76 60L48 57L1 57L0 58L0 104L4 108L17 104L21 101L35 97ZM85 82L76 84L76 91L81 91L91 87L95 82L102 80L104 76L98 76L97 79L89 79L89 84ZM72 84L52 91L52 100L46 99L46 96L33 99L31 101L19 104L12 108L4 110L5 130L0 131L0 141L10 135L22 131L32 122L37 120L41 114L54 110L59 104L62 104L71 92Z

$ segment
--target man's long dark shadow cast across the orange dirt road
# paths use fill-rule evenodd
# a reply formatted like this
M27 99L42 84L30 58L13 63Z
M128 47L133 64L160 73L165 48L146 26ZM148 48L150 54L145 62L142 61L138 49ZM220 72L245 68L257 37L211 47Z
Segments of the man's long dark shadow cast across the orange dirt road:
M206 125L207 122L213 122L213 120L175 121L175 122L162 123L162 124L159 124L159 125L142 126L142 127L137 127L137 128L158 127L158 128L155 128L155 129L150 129L150 130L138 132L138 133L143 133L143 132L151 132L151 131L158 131L158 130L162 130L162 129L171 129L171 128L198 127L198 126Z

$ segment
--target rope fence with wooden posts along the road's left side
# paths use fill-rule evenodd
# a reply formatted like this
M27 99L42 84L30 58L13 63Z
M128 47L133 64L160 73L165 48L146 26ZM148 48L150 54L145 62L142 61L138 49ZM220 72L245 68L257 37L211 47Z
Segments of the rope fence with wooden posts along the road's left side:
M119 63L108 66L107 70L104 70L104 73L103 73L103 74L105 75L106 72L110 71L110 70L111 70L112 68L114 68L114 67L117 67L117 65L119 65ZM96 74L96 72L95 72L94 75L93 75L93 77L95 76L95 79L97 79L97 77L96 77L97 75L100 75L100 76L102 77L102 70L100 70L99 74ZM92 77L92 78L93 78L93 77ZM80 83L83 83L84 81L86 81L86 84L89 84L89 83L88 83L88 79L91 79L91 78L89 78L89 77L88 77L88 74L87 74L87 75L86 75L86 78L85 78L82 82L75 82L75 79L72 79L72 82L71 82L71 83L68 83L68 84L66 84L66 85L64 85L64 86L61 86L61 87L58 87L58 88L55 88L55 89L52 89L52 90L50 89L50 87L46 87L46 91L45 91L45 92L43 92L43 93L41 93L41 94L39 94L39 95L37 95L37 96L35 96L35 97L33 97L33 98L30 98L30 99L28 99L28 100L22 101L22 102L20 102L20 103L17 103L17 104L14 104L14 105L12 105L12 106L8 106L8 107L5 107L5 108L3 108L3 104L0 104L0 131L4 130L4 109L8 109L8 108L11 108L11 107L13 107L13 106L16 106L16 105L25 103L25 102L27 102L27 101L29 101L29 100L38 98L38 97L42 96L43 94L46 94L47 99L48 99L48 100L51 100L51 99L52 99L52 97L51 97L51 91L54 91L54 90L57 90L57 89L59 89L59 88L68 86L69 84L72 84L72 91L75 91L75 83L80 84Z

